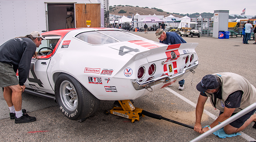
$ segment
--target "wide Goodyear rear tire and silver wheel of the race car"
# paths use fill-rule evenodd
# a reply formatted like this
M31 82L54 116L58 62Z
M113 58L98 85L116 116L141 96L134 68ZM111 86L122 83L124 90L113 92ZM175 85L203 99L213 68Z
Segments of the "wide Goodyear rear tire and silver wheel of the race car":
M55 97L61 112L71 120L88 118L99 106L99 99L75 78L65 73L57 77Z

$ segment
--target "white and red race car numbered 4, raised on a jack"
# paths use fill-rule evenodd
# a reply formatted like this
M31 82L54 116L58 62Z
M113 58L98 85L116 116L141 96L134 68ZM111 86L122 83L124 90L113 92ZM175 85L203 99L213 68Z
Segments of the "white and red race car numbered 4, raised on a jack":
M198 43L166 45L122 29L61 29L42 34L25 92L53 99L71 120L99 100L133 100L167 87L198 66ZM18 72L17 72L18 76Z

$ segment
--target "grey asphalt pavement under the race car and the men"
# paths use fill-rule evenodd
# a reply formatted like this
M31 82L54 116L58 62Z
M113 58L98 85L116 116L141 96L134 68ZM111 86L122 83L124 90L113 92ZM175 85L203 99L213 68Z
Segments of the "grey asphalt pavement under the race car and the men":
M131 32L144 38L154 40L154 31ZM217 72L234 72L244 76L252 85L255 80L255 49L254 41L243 44L242 38L216 39L207 37L183 37L186 42L199 43L196 53L199 66L194 74L185 79L184 90L178 90L178 83L168 89L163 88L134 100L134 106L151 113L160 114L165 118L187 125L195 124L195 107L199 92L196 84L203 76ZM193 82L193 83L191 83ZM184 98L186 99L184 99ZM190 103L188 103L191 101ZM187 142L200 134L192 129L165 120L157 120L145 116L132 123L129 119L116 115L105 115L104 110L112 108L114 101L101 101L96 114L83 122L66 118L53 100L39 98L22 93L22 108L37 120L31 123L15 124L9 118L9 109L0 90L0 142ZM209 100L205 110L218 116ZM208 114L203 115L202 125L213 122ZM251 123L242 131L242 135L219 138L213 134L202 142L246 142L256 140L255 129Z

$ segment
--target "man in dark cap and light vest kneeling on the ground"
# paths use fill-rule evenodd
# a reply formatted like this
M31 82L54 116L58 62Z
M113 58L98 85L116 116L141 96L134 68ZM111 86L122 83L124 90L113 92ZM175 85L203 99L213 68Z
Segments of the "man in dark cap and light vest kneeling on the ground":
M196 89L201 93L196 105L194 131L199 133L210 130L219 122L223 122L256 102L255 87L244 77L235 73L224 72L206 75L196 85ZM201 117L208 97L210 97L213 107L220 110L220 115L212 124L202 129ZM230 135L244 130L252 121L256 121L255 111L256 109L224 126L225 133Z

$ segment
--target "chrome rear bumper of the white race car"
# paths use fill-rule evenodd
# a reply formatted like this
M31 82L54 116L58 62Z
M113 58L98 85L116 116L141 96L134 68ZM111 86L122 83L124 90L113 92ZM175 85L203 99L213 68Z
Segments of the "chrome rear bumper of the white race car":
M191 70L196 69L197 66L198 66L198 61L195 61L189 67L186 67L185 69L181 68L180 72L176 73L175 75L172 75L172 76L164 75L164 76L161 76L161 77L158 77L153 80L146 81L146 82L132 81L132 84L136 90L141 90L144 88L149 88L149 87L154 86L159 83L169 83L171 81L178 80L179 78L184 76L186 73L190 72Z

